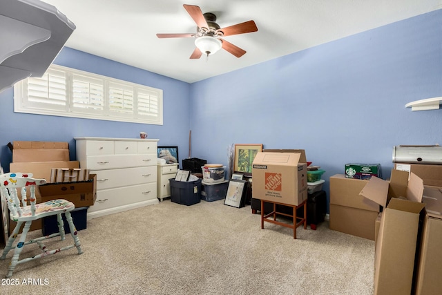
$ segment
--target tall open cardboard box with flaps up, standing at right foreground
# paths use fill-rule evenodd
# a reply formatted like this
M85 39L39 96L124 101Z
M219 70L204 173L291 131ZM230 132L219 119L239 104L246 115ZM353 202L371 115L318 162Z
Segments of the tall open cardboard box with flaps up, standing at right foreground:
M423 181L414 173L408 180L406 171L394 169L390 183L372 177L361 196L384 207L376 241L374 294L411 294L419 216L425 207Z

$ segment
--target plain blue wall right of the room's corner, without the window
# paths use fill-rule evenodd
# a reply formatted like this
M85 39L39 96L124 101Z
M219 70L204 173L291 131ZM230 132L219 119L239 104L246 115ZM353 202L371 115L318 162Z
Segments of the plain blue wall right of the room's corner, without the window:
M228 163L231 144L305 149L323 179L346 163L380 163L393 146L442 144L442 10L192 84L193 156ZM325 189L328 192L329 183Z

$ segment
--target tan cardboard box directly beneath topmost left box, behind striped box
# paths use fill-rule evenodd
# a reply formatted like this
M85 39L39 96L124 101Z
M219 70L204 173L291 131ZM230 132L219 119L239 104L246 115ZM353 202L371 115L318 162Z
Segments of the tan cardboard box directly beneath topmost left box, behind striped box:
M33 178L50 180L52 168L79 168L78 161L55 161L55 162L18 162L10 163L10 172L32 173Z

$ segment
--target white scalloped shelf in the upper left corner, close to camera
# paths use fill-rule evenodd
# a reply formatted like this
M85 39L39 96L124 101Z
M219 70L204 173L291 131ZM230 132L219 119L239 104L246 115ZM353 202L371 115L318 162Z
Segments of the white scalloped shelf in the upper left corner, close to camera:
M75 30L54 6L39 0L0 2L0 92L41 77Z

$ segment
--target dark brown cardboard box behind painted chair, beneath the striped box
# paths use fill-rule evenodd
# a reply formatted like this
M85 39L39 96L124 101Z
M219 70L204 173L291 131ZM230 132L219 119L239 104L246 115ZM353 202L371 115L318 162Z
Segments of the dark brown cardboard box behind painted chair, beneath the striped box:
M75 207L90 207L97 198L97 174L90 174L88 181L43 184L39 191L41 202L65 199Z

